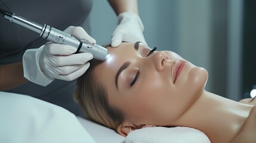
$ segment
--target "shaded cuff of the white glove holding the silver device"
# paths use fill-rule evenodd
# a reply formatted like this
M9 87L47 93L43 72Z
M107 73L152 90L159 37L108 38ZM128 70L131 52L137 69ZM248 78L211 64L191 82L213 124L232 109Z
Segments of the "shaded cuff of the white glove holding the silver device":
M23 54L23 72L24 77L30 82L38 85L47 86L53 82L54 78L47 76L39 66L39 55L42 52L41 46L39 49L27 49Z

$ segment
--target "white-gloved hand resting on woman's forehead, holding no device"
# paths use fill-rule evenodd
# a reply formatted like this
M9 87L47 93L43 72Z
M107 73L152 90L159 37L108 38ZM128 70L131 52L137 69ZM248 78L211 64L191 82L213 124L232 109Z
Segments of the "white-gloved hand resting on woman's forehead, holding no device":
M125 42L143 42L147 45L143 36L144 26L140 17L131 12L118 15L118 26L112 34L111 46L116 47Z

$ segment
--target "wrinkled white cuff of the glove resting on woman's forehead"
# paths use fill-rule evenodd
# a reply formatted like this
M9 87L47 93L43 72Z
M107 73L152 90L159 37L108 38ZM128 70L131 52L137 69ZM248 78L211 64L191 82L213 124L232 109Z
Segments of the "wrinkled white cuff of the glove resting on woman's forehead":
M127 21L132 21L138 24L140 26L141 32L144 31L144 25L138 16L138 14L132 13L132 12L124 12L121 14L118 14L118 24L125 23Z

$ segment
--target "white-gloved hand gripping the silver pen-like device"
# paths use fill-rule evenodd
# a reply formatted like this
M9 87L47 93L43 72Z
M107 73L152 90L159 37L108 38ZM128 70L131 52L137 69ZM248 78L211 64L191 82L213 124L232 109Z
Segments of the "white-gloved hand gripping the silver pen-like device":
M82 27L70 26L64 32L95 43ZM23 55L24 77L33 83L46 86L54 79L74 80L87 71L93 58L90 53L78 53L69 45L47 42L38 49L27 49Z

